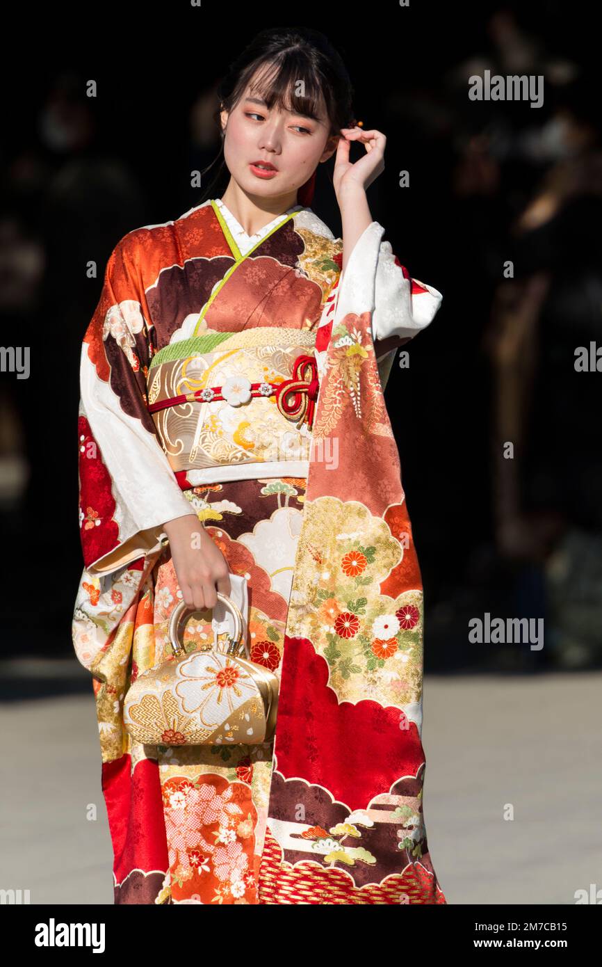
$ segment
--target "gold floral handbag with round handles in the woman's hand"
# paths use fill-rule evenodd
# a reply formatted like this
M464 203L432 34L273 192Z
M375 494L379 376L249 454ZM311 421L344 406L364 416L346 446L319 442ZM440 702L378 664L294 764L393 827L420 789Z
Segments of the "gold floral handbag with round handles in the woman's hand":
M217 592L217 599L234 617L234 636L224 651L214 647L186 653L181 635L186 617L197 609L180 601L172 611L169 638L174 654L138 675L124 701L124 724L136 742L255 746L272 739L278 678L264 665L241 657L243 615L227 595Z

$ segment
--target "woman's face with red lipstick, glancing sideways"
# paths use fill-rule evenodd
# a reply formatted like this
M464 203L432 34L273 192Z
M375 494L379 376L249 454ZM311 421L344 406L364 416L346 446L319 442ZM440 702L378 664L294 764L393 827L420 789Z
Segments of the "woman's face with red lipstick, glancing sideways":
M276 104L269 110L261 96L253 91L253 80L230 113L221 111L222 128L225 127L224 159L230 174L246 194L288 202L320 161L330 158L338 137L329 136L330 122L324 102L319 121L280 109ZM262 177L254 166L255 161L266 161L273 166L270 177Z

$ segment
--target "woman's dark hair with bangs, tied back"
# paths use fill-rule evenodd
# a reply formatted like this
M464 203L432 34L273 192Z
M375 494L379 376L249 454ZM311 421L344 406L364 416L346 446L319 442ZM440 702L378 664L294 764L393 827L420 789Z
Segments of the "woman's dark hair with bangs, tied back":
M352 114L354 90L351 79L340 54L324 34L309 27L262 30L233 61L217 86L219 104L214 119L222 143L217 158L205 170L213 167L216 161L221 163L205 192L205 200L213 196L215 186L228 173L223 157L220 112L233 110L251 77L264 66L266 70L257 78L257 89L269 108L277 104L280 108L291 108L317 119L322 97L330 120L330 135L338 134L341 128L353 128L357 123ZM304 81L303 95L296 90L300 80Z

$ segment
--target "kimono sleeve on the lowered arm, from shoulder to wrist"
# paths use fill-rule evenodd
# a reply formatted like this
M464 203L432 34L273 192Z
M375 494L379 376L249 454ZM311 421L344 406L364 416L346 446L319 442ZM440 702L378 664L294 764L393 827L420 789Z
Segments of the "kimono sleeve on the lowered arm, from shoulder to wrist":
M90 574L160 549L163 524L193 513L147 410L150 345L132 233L110 255L81 347L79 526Z

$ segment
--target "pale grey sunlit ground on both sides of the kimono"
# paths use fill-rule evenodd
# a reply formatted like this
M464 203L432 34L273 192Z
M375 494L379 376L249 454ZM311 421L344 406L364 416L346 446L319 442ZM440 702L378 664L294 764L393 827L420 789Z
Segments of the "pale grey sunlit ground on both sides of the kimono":
M602 887L601 689L600 673L427 676L424 818L448 903L573 904ZM5 703L0 730L0 887L111 904L92 692Z

